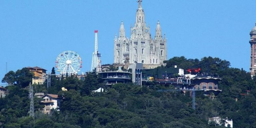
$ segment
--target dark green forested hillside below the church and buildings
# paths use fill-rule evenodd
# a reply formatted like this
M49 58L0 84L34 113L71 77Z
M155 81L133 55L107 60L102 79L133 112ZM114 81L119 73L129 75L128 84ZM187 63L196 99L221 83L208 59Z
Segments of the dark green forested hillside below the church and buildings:
M42 114L42 99L35 98L33 119L28 113L28 83L33 74L23 68L10 71L2 80L13 85L7 86L8 95L0 98L0 128L224 128L208 123L209 118L217 116L232 119L234 128L256 127L256 77L251 79L248 72L230 68L228 61L219 58L199 60L182 56L165 63L166 67L177 65L184 70L200 67L204 73L221 77L222 92L212 100L197 91L193 110L189 93L156 91L172 86L153 82L142 88L132 83L107 86L94 72L83 81L74 76L61 80L53 77L50 88L46 84L33 85L34 92L58 94L62 98L60 111ZM61 91L61 87L68 91ZM99 87L105 90L92 93Z

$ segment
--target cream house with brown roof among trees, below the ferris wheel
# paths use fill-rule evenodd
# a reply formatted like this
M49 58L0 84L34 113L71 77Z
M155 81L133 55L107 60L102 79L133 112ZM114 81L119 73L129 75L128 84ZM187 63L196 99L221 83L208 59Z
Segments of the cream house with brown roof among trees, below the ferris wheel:
M42 98L43 101L41 101L41 104L44 105L42 110L43 113L47 114L51 111L51 109L59 109L61 99L58 97L58 95L45 94Z

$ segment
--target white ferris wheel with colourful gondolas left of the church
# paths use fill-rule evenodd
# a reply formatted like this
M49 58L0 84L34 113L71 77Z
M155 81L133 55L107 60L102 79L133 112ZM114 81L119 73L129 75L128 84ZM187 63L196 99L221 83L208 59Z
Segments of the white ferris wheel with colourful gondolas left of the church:
M73 51L64 51L60 53L55 61L56 68L58 68L58 72L60 74L77 74L82 68L82 60L81 57Z

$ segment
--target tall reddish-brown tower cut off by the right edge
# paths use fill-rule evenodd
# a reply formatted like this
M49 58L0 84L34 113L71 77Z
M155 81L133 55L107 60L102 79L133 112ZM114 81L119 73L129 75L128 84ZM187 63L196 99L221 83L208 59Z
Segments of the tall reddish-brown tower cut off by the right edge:
M256 23L250 32L251 39L249 43L251 44L251 66L250 72L251 77L253 77L256 73Z

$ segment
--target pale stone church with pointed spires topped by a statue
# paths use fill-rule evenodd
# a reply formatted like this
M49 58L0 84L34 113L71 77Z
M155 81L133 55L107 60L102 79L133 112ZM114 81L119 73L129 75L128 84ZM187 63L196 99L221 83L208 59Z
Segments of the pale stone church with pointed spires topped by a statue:
M157 21L155 38L151 37L150 26L146 26L144 10L141 7L136 12L134 27L131 26L130 39L125 35L124 23L121 22L119 36L114 39L114 63L130 64L143 63L143 68L155 68L167 59L166 38L162 37L162 30ZM151 66L149 66L151 65ZM152 66L153 65L153 66Z

